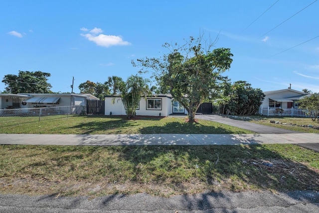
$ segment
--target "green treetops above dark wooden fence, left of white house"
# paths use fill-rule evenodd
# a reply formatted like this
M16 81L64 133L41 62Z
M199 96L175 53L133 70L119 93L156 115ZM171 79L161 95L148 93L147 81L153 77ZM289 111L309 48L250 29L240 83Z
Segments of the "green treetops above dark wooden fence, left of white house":
M110 94L109 85L107 84L107 82L103 84L100 82L94 83L87 80L86 82L79 85L79 89L81 93L92 94L100 100L104 100L104 96Z

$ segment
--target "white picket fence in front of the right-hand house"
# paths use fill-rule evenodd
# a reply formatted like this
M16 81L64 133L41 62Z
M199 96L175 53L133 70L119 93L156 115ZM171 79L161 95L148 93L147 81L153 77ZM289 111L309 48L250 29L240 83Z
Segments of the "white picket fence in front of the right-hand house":
M275 107L260 107L259 114L265 116L291 116L291 117L310 117L304 109L295 108L275 108Z

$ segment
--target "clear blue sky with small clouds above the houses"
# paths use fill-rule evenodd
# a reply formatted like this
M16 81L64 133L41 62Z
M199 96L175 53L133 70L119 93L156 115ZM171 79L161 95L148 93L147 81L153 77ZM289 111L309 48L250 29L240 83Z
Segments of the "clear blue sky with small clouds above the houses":
M131 60L167 53L164 42L183 44L189 36L219 33L215 47L234 54L223 74L233 82L245 80L263 91L291 84L319 92L319 1L314 1L1 0L0 79L40 70L51 73L52 91L71 92L74 76L78 93L87 80L136 74ZM0 91L4 88L0 82Z

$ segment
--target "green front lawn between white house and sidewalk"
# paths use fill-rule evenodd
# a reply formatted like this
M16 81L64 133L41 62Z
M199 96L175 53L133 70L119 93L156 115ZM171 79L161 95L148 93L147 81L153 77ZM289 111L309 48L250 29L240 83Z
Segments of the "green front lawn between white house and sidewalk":
M189 124L185 118L137 117L127 120L121 116L48 116L0 117L0 133L25 134L250 134L249 130L212 121L198 120Z

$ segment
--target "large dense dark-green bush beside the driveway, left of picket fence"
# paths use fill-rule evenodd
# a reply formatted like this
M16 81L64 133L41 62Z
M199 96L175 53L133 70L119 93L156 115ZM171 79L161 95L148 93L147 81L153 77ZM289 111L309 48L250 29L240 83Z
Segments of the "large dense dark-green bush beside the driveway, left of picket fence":
M265 94L261 89L254 89L246 81L236 81L230 86L225 82L222 99L219 103L223 106L223 112L235 115L254 115L258 112ZM228 114L227 113L227 114Z

